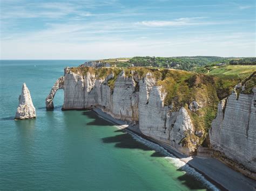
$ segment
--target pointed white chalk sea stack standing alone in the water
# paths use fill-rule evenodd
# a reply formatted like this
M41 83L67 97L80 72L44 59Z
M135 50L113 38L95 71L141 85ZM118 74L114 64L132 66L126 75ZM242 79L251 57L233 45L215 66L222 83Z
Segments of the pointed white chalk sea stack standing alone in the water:
M32 103L30 92L26 84L23 83L22 93L19 95L19 106L15 119L30 119L36 117L36 109Z

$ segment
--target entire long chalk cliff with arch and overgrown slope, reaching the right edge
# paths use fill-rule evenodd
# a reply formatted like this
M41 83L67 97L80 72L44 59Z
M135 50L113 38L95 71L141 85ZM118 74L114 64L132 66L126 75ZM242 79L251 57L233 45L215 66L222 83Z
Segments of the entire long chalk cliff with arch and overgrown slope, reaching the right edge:
M215 157L219 152L254 176L255 88L249 92L241 84L240 94L234 92L218 105L210 76L149 68L67 67L46 98L46 107L53 107L60 88L64 89L63 110L99 107L187 155L196 154L208 135L208 149L216 151Z

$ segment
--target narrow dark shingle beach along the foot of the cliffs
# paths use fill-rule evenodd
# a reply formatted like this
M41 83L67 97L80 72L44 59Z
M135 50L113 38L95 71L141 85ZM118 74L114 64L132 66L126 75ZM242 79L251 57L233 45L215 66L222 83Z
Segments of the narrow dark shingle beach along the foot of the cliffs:
M157 140L144 136L138 129L138 125L131 125L126 123L125 121L114 119L109 114L106 114L100 108L92 108L92 111L96 112L96 114L106 121L109 121L117 126L117 128L122 129L129 133L134 133L139 137L142 137L149 142L157 144L163 147L167 152L174 155L174 157L178 158L180 161L185 162L186 165L193 168L196 172L200 173L204 176L206 180L211 182L215 187L220 190L255 190L256 189L256 181L247 178L245 175L234 171L232 168L223 164L223 162L218 159L214 159L211 157L198 157L191 156L186 157L183 154L180 154L174 151L170 146L160 143ZM232 182L232 184L231 184Z

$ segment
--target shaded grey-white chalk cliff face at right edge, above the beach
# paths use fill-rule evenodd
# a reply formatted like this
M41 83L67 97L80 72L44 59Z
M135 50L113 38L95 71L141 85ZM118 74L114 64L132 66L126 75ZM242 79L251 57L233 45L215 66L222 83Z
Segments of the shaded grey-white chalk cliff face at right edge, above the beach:
M256 172L256 88L253 95L233 93L220 102L209 131L211 147ZM225 105L226 104L226 105Z

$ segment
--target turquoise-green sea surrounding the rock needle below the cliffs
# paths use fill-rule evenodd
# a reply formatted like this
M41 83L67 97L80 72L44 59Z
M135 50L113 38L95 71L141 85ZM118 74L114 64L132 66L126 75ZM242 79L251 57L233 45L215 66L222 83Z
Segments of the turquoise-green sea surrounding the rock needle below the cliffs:
M92 111L55 110L45 97L65 66L85 60L1 60L0 190L206 190L203 176L163 148L130 135ZM36 119L14 121L26 83Z

